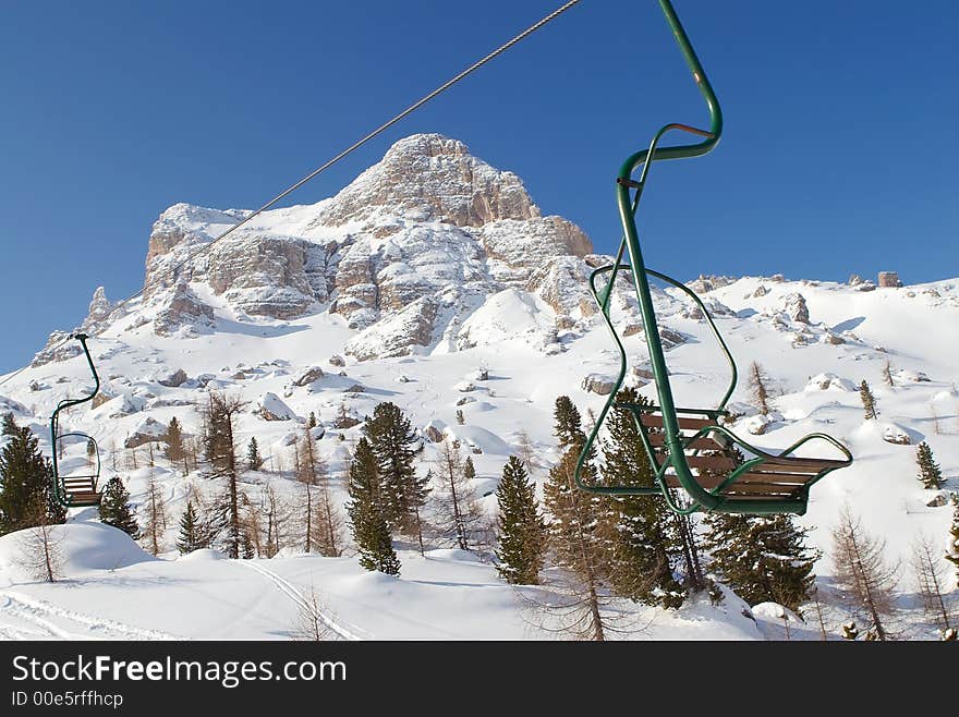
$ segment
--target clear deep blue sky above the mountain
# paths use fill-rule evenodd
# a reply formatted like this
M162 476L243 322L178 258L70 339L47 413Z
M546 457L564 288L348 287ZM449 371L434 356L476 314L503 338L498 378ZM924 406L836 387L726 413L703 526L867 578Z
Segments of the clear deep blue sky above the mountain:
M255 207L559 0L4 3L0 372L135 291L175 202ZM723 105L705 158L656 167L647 263L845 280L959 276L955 0L676 0ZM584 0L290 198L440 132L546 214L618 239L612 183L663 123L706 121L655 0Z

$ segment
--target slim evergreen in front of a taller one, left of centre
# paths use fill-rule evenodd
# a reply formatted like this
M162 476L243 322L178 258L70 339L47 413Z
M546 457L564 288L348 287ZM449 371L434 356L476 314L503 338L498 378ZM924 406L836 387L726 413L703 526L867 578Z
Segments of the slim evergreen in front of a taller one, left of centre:
M376 454L366 438L356 443L350 465L350 526L360 551L360 564L389 575L400 572L389 524L380 503L380 477Z

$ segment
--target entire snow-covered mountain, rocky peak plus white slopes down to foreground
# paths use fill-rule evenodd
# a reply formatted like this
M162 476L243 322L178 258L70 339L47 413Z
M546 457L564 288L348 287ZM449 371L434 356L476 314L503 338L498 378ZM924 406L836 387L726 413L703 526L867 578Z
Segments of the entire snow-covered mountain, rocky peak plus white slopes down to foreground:
M394 186L411 177L416 179L410 186ZM171 207L154 227L148 276L240 216ZM518 178L470 157L460 143L417 135L337 197L258 217L208 259L119 316L108 316L109 303L98 292L86 327L96 333L90 347L101 398L96 408L66 415L63 425L97 438L106 452L106 477L121 475L135 502L144 499L153 473L169 513L178 517L189 493L209 482L163 461L144 467L143 452L138 467L128 469L124 443L136 443L136 436L148 441L173 416L185 433L198 434L197 408L206 391L223 390L246 403L239 442L255 436L271 471L244 476L245 489L256 495L269 482L292 493L283 469L291 467L290 443L313 412L325 428L316 434L317 447L342 505L345 447L362 426L338 429L337 417L345 411L362 418L389 400L423 433L424 472L437 457L429 439L437 432L445 429L473 451L477 493L491 513L489 494L508 455L519 450L521 433L544 467L556 461L556 397L570 396L584 414L597 410L602 378L616 372L609 337L586 301L583 279L603 260L590 251L572 224L539 217ZM781 277L701 279L693 285L740 369L756 361L769 376L773 422L750 438L781 449L822 430L855 454L852 467L815 487L809 513L800 519L823 550L816 566L821 593L828 595L833 573L829 531L848 505L866 530L886 538L889 558L902 561L902 606L914 608L914 585L905 569L911 544L925 534L945 551L951 517L916 481L916 442L932 446L947 487L959 489L959 279L872 291ZM658 291L656 302L659 330L671 347L667 357L678 402L714 404L728 375L707 326L673 290ZM642 369L643 327L626 282L615 306L629 327L631 362ZM893 387L882 379L887 361ZM587 376L593 380L584 381ZM642 376L631 374L631 380L652 397ZM863 420L857 390L863 379L876 396L878 421ZM47 351L0 388L0 411L12 411L43 436L57 402L88 386L88 369L74 348ZM744 382L732 401L744 414L733 429L756 430ZM464 425L457 423L458 411ZM44 445L49 450L46 439ZM71 448L68 462L85 460L82 452L83 446ZM534 474L539 482L544 467ZM70 550L96 535L112 555L113 537L78 532L95 530L82 525L94 519L93 511L74 513L76 524L65 528L63 540ZM203 552L117 566L71 558L64 571L83 585L74 590L69 583L24 583L9 567L12 539L0 544L5 625L0 629L10 636L58 630L118 636L123 629L187 637L289 636L302 601L296 595L311 588L321 595L340 636L538 634L524 620L515 591L489 564L459 552L434 550L424 559L401 549L399 579L366 574L353 558L281 555L231 562ZM775 610L760 610L754 622L742 617L737 600L730 595L719 608L691 604L679 613L640 610L638 622L652 619L653 627L635 636L776 634L775 620L767 619ZM191 617L183 618L187 605ZM110 616L125 628L98 633L90 616ZM923 630L915 628L916 634Z

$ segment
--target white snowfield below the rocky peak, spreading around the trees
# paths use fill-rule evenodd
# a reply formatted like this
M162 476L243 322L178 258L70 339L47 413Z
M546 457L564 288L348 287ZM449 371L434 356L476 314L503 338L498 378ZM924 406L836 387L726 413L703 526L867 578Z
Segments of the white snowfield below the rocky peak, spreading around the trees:
M756 299L753 294L760 285L769 291ZM930 289L938 297L931 297ZM809 326L791 324L777 311L781 306L777 295L781 300L794 292L808 302ZM959 377L952 361L959 351L959 332L947 330L959 315L959 282L862 293L830 283L743 278L707 295L735 312L719 317L718 324L740 365L758 361L775 386L775 420L754 440L775 449L808 432L825 430L845 441L855 455L852 467L816 486L808 515L799 519L811 528L813 546L823 551L816 566L821 593L828 596L831 590L829 530L839 510L848 505L862 517L867 531L887 540L889 559L903 566L899 593L908 630L916 636L932 636L932 628L919 617L915 586L906 566L919 534L933 537L945 552L951 508L930 507L936 496L916 481L914 445L927 440L947 477L947 487L959 488L959 392L955 387ZM478 451L471 453L478 473L476 487L480 495L487 494L482 500L491 511L495 497L488 494L495 489L508 454L518 448L519 432L529 434L544 463L557 460L550 435L553 401L566 393L584 412L598 409L603 398L585 391L582 378L615 369L615 356L602 327L568 340L560 353L544 354L526 339L527 304L494 300L503 311L518 313L515 317L497 317L493 325L495 345L362 363L348 358L342 369L327 363L330 355L342 354L343 343L352 335L336 316L317 314L295 321L266 319L241 325L220 305L216 306L215 332L197 339L126 331L126 317L90 341L105 390L117 398L97 409L70 414L66 425L87 430L99 440L106 452L105 477L113 474L110 453L117 452L118 473L126 481L134 502L143 500L151 473L160 482L171 515L168 549L175 539L175 520L185 505L189 484L204 486L209 482L196 474L183 476L162 460L155 469L141 465L124 470L122 443L143 429L146 417L167 425L177 416L185 433L199 432L195 406L203 401L204 386L218 387L248 402L239 423L239 440L245 443L256 436L267 469L270 464L277 469L283 450L288 450L286 445L302 432L305 416L315 412L327 428L317 446L333 476L340 503L345 500L345 464L338 434L355 437L360 428L340 432L330 427L339 406L345 404L362 416L372 413L378 401L393 401L415 426L425 429L433 423L464 447ZM681 303L666 296L663 301L664 323L688 337L668 354L678 400L709 405L725 387L721 360L705 325L684 318ZM669 311L673 313L669 315ZM483 314L474 325L481 319ZM506 333L509 326L515 327L512 336ZM798 342L802 331L809 337ZM827 331L836 332L843 342L818 340ZM631 337L629 341L636 364L642 364L644 356L640 339ZM881 379L887 360L894 372L891 388ZM320 366L324 376L295 386L313 366ZM175 369L189 378L178 387L159 382ZM339 376L339 370L345 377ZM244 378L236 377L241 373ZM484 373L486 380L477 380ZM400 376L402 382L397 380ZM878 421L863 420L855 390L863 378L876 394ZM31 384L39 389L32 390ZM4 386L0 401L13 410L21 425L32 425L49 450L43 433L46 416L57 401L89 385L83 358L73 357L27 369ZM344 390L351 386L362 390ZM650 386L642 392L652 396ZM471 400L458 405L464 398ZM733 403L754 413L742 386ZM284 418L287 410L295 417L266 421L256 412L264 405ZM457 410L463 411L465 425L457 424ZM745 415L735 429L746 433L750 418ZM905 434L910 445L889 442L890 434ZM435 452L435 445L426 441L424 470ZM290 459L286 462L289 469ZM542 481L545 470L537 470L534 477ZM251 490L269 479L290 491L295 489L283 475L269 473L247 474L245 487ZM524 593L544 591L506 585L493 566L472 554L434 549L423 558L412 546L400 545L403 569L398 579L367 573L352 557L281 554L270 560L230 561L213 551L201 551L186 557L167 552L156 559L125 535L96 523L93 509L72 512L72 522L56 528L66 555L62 582L40 583L24 574L16 567L16 546L22 537L0 538L0 634L10 639L289 639L296 634L304 596L315 594L333 637L556 637L537 627L535 616L527 615L530 599ZM956 591L950 599L955 597ZM678 612L631 609L635 620L628 636L633 639L785 636L781 610L777 613L765 607L746 617L748 606L729 593L718 608L700 598ZM833 624L838 627L841 610L836 606L830 610ZM790 623L790 639L817 639L817 634L809 621Z

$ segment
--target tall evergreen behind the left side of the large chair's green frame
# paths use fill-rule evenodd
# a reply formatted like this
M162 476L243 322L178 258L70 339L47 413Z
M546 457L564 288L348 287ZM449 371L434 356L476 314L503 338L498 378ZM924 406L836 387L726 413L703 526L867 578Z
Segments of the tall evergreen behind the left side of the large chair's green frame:
M617 400L646 403L636 389L620 391ZM609 440L604 446L603 481L606 485L654 487L655 476L642 435L632 414L617 409L607 418ZM670 545L673 530L666 503L655 496L617 496L612 512L610 581L623 597L664 607L679 607L683 590L673 578Z

